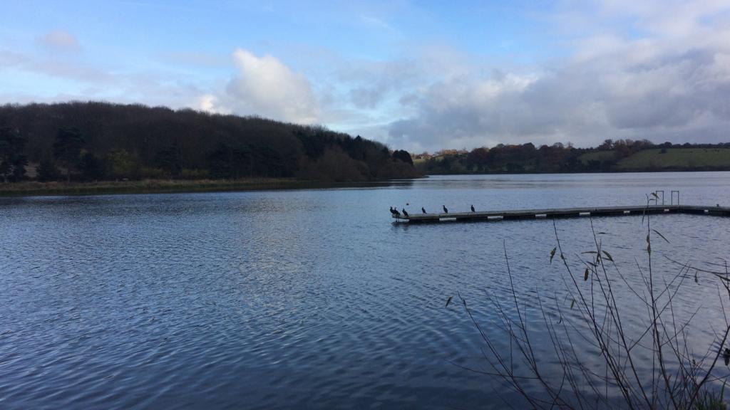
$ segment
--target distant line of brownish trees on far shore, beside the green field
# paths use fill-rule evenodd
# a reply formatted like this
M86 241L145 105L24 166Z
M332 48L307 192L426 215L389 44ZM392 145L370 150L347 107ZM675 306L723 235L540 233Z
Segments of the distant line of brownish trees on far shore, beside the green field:
M520 174L617 171L617 164L640 150L669 148L730 148L722 144L654 144L646 139L606 139L597 147L576 148L557 142L535 147L532 143L479 147L471 151L447 150L434 155L414 155L416 168L424 174ZM585 155L596 152L601 155ZM650 170L650 169L647 169Z

